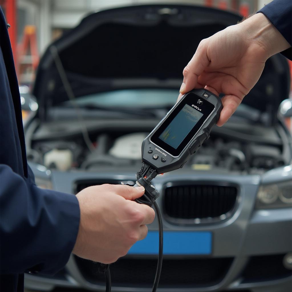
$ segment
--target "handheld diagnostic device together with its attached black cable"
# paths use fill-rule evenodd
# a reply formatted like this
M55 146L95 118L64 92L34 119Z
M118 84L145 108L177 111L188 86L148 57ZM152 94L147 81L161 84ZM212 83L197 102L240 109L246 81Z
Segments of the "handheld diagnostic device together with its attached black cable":
M154 206L159 227L159 256L152 292L157 290L162 267L163 225L156 203L158 190L151 180L182 168L192 154L210 136L223 108L220 98L206 89L193 89L181 97L154 130L142 142L142 167L137 172L134 187L143 186L145 193L135 201ZM109 265L101 264L106 276L106 292L111 291Z

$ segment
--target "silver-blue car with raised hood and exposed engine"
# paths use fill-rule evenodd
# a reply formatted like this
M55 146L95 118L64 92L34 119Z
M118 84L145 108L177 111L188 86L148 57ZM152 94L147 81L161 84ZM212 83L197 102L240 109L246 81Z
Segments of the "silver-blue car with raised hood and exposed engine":
M50 44L32 91L38 109L25 125L36 184L72 195L133 185L141 143L175 104L199 42L240 20L206 7L129 6L88 15ZM182 169L152 181L164 225L157 291L291 291L292 147L278 111L289 86L287 60L272 56L227 123ZM151 291L157 220L148 228L110 265L112 291ZM72 254L55 275L25 274L25 287L105 291L105 278Z

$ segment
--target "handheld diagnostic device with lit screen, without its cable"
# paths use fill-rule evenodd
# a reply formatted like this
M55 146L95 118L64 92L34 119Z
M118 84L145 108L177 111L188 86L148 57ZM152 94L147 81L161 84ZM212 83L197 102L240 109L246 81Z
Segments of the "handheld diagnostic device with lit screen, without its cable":
M205 89L194 89L178 101L142 143L142 162L157 174L183 167L209 138L222 102Z

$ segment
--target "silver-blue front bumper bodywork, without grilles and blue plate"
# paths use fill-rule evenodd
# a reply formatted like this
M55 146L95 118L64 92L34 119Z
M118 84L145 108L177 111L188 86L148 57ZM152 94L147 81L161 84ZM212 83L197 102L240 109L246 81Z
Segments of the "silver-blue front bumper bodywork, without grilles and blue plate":
M72 186L82 179L133 180L133 173L114 175L106 173L53 173L54 187L58 191L73 192ZM153 181L161 191L168 182L190 180L206 181L204 173L172 172ZM288 292L292 290L291 270L283 267L283 257L291 252L292 209L254 210L260 184L258 175L218 175L208 173L208 180L228 182L239 187L237 210L228 220L213 224L174 225L164 220L164 230L178 232L208 231L212 233L212 253L200 255L167 255L162 269L159 292L196 291L252 291ZM67 184L64 184L67 181ZM70 187L68 187L70 186ZM162 196L157 203L162 205ZM157 222L149 225L156 231ZM151 291L154 281L156 255L130 254L111 267L112 291ZM154 267L152 269L152 267ZM148 270L147 269L152 269ZM184 270L185 269L185 270ZM25 275L25 287L50 291L54 287L86 288L105 291L105 281L91 262L71 256L58 277ZM165 274L163 274L165 270ZM93 271L93 272L92 272ZM119 272L121 271L121 272ZM178 272L180 271L180 272ZM118 274L120 277L114 277ZM142 274L142 275L141 275ZM153 274L153 281L151 274ZM123 275L123 276L121 276ZM144 275L144 276L143 276ZM186 279L182 280L182 276ZM149 278L143 282L137 280ZM115 278L118 279L115 281ZM136 279L136 281L135 281Z

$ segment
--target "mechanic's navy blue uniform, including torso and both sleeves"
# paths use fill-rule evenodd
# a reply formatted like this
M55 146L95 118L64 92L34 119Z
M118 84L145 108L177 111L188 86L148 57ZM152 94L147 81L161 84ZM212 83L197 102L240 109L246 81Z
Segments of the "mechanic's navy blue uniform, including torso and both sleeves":
M291 0L275 0L260 11L290 45L291 10ZM291 48L283 54L291 59ZM23 272L54 274L62 269L79 219L77 198L39 189L27 166L18 82L0 9L0 291L23 291Z

